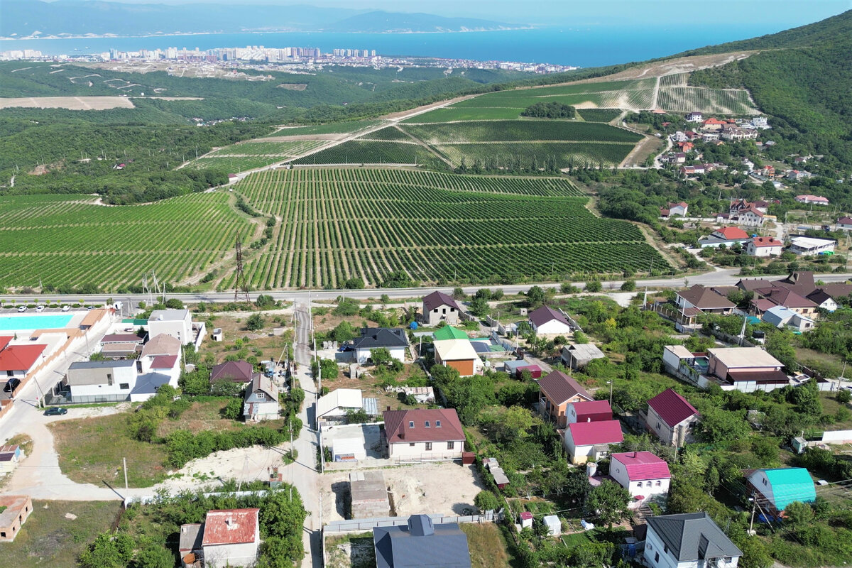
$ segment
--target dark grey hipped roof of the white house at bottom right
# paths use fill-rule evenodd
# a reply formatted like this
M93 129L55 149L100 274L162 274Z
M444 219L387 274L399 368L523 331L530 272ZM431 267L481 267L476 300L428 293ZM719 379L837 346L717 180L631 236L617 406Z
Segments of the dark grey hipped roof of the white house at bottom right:
M678 562L742 556L740 548L704 512L650 517L648 527Z

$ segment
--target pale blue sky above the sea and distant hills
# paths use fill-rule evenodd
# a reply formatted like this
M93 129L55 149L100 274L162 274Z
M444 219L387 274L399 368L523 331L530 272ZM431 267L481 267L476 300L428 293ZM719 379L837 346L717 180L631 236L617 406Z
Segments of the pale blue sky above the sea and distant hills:
M226 0L107 0L121 3L230 3ZM802 26L852 9L852 0L237 0L241 4L308 4L329 8L381 9L475 17L524 24L694 23L761 20L763 24Z

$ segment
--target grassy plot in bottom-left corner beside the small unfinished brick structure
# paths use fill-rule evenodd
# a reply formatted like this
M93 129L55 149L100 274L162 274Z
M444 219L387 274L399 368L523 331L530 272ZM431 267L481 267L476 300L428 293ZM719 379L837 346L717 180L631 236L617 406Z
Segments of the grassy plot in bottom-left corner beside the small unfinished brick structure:
M0 566L74 566L77 558L118 519L118 501L34 501L14 542L0 542ZM69 519L66 515L75 515Z

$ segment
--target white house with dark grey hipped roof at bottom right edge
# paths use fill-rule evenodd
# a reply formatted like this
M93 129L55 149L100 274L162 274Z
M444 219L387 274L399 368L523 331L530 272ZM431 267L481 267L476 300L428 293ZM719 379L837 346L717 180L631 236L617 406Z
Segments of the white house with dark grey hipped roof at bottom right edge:
M735 568L740 556L707 513L648 517L643 557L649 568Z

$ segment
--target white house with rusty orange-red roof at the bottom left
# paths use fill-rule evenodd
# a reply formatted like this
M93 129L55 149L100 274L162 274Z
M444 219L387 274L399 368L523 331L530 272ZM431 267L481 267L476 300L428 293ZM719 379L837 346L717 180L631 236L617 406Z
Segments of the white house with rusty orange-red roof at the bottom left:
M202 531L204 566L253 566L260 548L260 509L208 511Z

